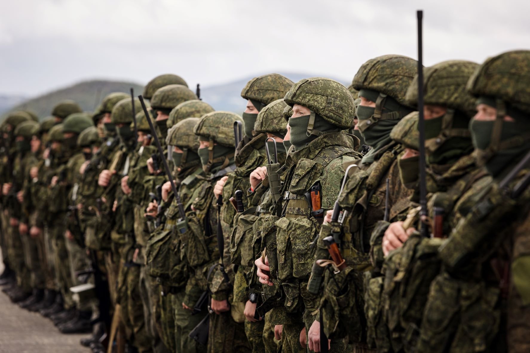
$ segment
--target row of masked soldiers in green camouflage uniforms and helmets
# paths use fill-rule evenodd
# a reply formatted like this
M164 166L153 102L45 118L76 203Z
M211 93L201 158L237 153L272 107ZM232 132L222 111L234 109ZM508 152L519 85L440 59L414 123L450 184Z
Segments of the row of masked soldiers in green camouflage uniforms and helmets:
M4 291L94 352L527 352L530 51L417 67L12 113Z

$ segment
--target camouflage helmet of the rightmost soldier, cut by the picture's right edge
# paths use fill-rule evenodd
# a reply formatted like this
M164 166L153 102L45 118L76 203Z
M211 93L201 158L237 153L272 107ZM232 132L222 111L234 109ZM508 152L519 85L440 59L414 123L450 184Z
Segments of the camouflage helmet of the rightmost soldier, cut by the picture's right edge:
M474 96L500 98L530 113L530 50L514 50L488 58L471 76L467 90Z

